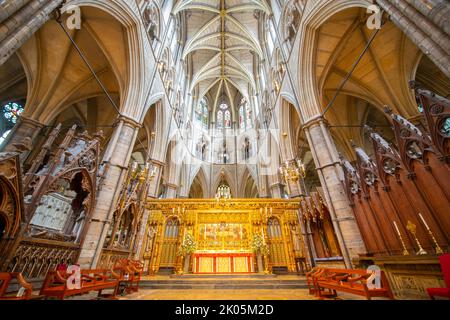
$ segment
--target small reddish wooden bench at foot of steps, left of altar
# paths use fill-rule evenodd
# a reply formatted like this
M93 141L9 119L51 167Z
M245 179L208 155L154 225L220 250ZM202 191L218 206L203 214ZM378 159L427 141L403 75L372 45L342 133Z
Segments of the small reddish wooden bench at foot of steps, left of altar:
M131 293L139 290L143 269L140 261L120 259L111 269L111 272L118 279L119 285L125 285L125 292Z

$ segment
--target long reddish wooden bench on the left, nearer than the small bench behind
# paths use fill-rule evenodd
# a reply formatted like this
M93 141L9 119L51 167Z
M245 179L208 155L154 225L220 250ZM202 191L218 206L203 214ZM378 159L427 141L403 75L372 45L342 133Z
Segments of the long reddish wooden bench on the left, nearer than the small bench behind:
M81 270L81 288L70 289L67 287L67 279L71 276L64 271L49 271L44 280L40 294L46 297L64 299L69 296L86 294L98 291L98 297L114 299L117 294L118 279L110 270L86 269ZM113 289L110 295L102 295L104 289Z

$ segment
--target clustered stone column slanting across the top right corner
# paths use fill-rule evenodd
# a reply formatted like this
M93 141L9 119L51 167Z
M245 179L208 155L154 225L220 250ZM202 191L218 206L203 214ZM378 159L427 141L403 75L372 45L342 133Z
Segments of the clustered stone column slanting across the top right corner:
M448 45L448 36L443 32L437 32L437 28L430 27L426 18L418 14L417 10L411 10L412 7L405 3L404 0L376 0L377 3L385 10L392 22L394 22L400 30L402 30L412 42L414 42L420 50L426 54L436 66L450 78L450 55L439 43ZM397 6L396 6L397 5ZM401 9L399 7L402 7ZM402 10L407 10L403 12ZM428 26L428 27L427 27ZM443 34L444 36L439 36ZM439 39L438 42L434 39Z

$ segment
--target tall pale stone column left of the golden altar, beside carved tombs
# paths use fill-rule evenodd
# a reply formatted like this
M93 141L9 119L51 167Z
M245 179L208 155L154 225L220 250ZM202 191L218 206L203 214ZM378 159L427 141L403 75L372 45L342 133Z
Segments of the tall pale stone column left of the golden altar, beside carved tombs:
M97 192L92 216L86 226L78 263L83 269L97 265L121 191L140 125L125 116L119 117L106 149L103 181Z

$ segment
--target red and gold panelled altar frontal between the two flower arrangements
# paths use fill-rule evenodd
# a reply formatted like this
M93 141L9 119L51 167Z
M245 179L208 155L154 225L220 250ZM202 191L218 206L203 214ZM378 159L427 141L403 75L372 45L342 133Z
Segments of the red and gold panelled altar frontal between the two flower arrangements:
M194 273L252 273L254 254L251 252L194 253Z

